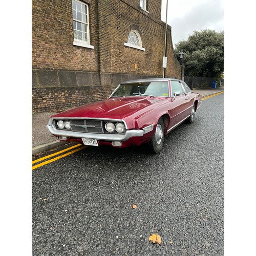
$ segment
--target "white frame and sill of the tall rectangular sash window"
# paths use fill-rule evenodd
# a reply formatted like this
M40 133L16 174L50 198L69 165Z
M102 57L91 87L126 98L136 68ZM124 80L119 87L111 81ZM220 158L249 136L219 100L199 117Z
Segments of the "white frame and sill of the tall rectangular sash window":
M89 6L83 2L80 2L78 0L72 0L72 12L75 11L77 13L77 7L76 9L73 9L73 2L75 3L80 3L82 6L84 6L86 8L86 14L87 15L87 18L85 21L83 20L80 20L80 19L76 19L76 17L74 17L73 13L72 13L72 16L73 16L73 24L74 22L79 22L81 24L84 24L85 27L87 28L87 31L84 31L84 33L87 33L87 41L86 40L81 40L81 39L77 39L75 38L75 35L74 35L74 41L73 41L73 45L74 46L80 46L80 47L86 47L86 48L90 48L90 49L94 49L94 46L91 46L90 45L90 29L89 29ZM73 31L77 31L77 28L74 28L74 25L73 25ZM80 30L78 30L80 31Z

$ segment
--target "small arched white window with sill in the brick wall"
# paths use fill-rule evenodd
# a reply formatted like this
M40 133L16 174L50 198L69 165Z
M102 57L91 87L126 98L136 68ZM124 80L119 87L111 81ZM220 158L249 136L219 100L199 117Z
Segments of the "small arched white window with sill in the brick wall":
M138 31L139 28L136 25L131 25L127 28L126 31L126 38L127 42L124 42L124 46L135 48L141 51L145 51L145 48L142 47L142 39L141 39L141 32Z

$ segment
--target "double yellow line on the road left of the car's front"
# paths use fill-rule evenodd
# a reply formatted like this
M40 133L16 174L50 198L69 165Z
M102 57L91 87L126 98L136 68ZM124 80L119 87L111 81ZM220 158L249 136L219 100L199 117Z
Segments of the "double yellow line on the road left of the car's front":
M40 167L40 166L46 165L46 164L48 164L48 163L54 162L54 161L56 161L56 160L58 160L58 159L60 159L60 158L62 158L62 157L66 157L66 156L68 156L68 155L71 155L71 154L73 154L73 153L75 153L75 152L77 152L77 151L82 150L83 148L88 147L88 146L81 146L81 147L79 147L79 146L81 146L81 144L77 144L77 145L71 146L71 147L69 147L69 148L66 148L65 150L62 150L62 151L56 152L56 153L54 153L54 154L51 154L51 155L49 155L49 156L45 156L45 157L42 157L42 158L39 158L39 159L36 159L36 160L32 161L32 170L33 170L33 169L36 169L36 168L38 168L38 167ZM79 147L79 148L76 148L76 147ZM76 148L76 149L73 150L73 148ZM72 151L70 151L70 150L72 150ZM66 153L66 154L60 155L60 154L65 153L65 152L67 152L67 151L69 151L69 152ZM55 157L55 156L57 156L57 155L60 155L60 156ZM54 157L54 158L52 158L52 157ZM51 159L49 159L49 158L51 158ZM49 160L44 161L44 160L46 160L46 159L49 159ZM42 162L42 161L43 161L43 162ZM41 162L41 163L38 163L38 162ZM35 163L38 163L38 164L34 165Z

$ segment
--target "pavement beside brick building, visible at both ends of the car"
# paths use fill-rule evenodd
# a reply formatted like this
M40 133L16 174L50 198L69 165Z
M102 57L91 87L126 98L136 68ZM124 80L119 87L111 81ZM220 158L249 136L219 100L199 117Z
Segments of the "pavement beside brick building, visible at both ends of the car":
M196 89L193 92L200 93L202 98L224 91L224 87ZM52 150L67 142L59 141L47 129L49 118L56 112L43 112L32 114L32 155ZM69 143L69 142L68 142Z

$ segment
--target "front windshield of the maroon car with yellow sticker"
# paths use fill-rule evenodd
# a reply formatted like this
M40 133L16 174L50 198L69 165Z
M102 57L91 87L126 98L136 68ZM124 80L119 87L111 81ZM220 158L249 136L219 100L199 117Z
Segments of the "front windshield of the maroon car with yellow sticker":
M167 81L122 83L111 97L158 96L169 97Z

